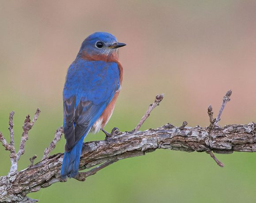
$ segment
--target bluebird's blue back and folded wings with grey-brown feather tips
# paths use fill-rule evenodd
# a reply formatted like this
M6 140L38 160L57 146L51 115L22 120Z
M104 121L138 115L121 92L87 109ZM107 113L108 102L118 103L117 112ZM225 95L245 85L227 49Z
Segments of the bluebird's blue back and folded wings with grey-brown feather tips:
M115 62L75 60L63 91L65 151L90 131L119 89Z

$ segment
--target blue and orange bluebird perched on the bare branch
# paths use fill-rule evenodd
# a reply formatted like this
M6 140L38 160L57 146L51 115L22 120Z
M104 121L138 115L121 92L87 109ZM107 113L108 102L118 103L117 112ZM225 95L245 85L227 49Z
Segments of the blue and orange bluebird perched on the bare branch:
M83 139L102 130L112 116L123 81L118 48L126 44L107 32L95 32L82 43L69 66L63 89L63 129L66 144L60 175L78 174Z

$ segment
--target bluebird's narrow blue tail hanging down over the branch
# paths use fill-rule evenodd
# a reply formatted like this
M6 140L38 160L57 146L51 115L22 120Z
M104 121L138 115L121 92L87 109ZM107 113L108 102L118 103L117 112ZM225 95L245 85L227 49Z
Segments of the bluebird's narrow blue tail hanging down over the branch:
M69 152L65 151L60 172L62 179L66 177L72 178L77 175L84 137L85 135L79 139L72 150Z

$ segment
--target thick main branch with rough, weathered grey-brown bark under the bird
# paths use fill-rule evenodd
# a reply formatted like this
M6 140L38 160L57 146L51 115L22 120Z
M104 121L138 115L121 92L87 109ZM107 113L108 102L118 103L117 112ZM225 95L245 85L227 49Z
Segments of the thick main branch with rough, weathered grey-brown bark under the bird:
M185 124L184 124L185 125ZM166 124L157 129L143 132L113 131L106 140L84 143L80 159L80 170L102 164L90 173L81 173L78 180L95 174L99 169L117 160L145 155L156 149L230 154L233 151L256 151L256 124L232 124L224 127L214 126L209 135L209 128L174 127ZM33 202L26 194L49 187L60 180L60 167L63 154L55 154L8 176L0 177L1 202ZM66 180L64 180L66 181Z

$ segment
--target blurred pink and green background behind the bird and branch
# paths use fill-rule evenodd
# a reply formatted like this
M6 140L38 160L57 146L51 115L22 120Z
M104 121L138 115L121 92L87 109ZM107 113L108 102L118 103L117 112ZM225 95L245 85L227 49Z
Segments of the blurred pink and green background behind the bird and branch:
M207 106L217 113L233 94L221 125L247 124L256 115L256 1L253 0L1 0L0 131L9 140L8 114L15 111L18 147L26 114L41 109L19 169L43 150L62 125L62 88L84 38L114 34L124 81L110 131L132 130L158 93L164 93L142 130L168 122L207 126ZM215 114L216 115L216 114ZM86 141L104 139L88 135ZM52 152L63 152L62 138ZM0 175L9 170L0 147ZM256 154L157 150L119 161L85 182L68 180L29 194L42 203L256 202Z

